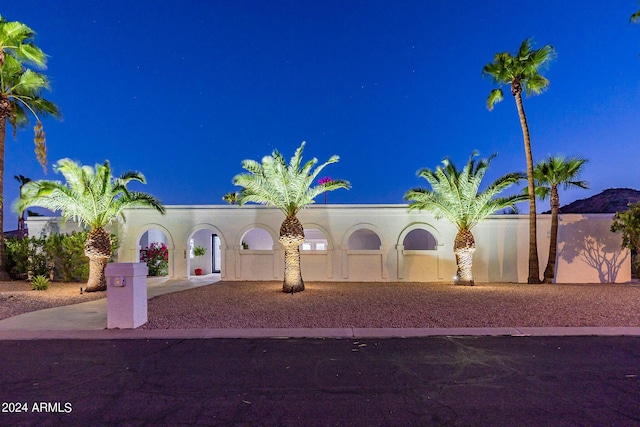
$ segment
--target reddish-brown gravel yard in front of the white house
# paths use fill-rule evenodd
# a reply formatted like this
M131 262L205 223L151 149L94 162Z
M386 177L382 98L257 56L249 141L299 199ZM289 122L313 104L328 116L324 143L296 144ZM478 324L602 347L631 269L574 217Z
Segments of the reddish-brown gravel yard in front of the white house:
M142 329L640 326L640 285L218 282L149 300ZM105 298L78 283L0 282L0 319Z

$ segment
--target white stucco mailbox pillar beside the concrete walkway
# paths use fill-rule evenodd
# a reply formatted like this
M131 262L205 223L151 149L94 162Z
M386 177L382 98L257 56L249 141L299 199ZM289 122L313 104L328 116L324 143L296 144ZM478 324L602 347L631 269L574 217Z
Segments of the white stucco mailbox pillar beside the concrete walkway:
M144 263L107 264L108 329L134 329L147 323L147 273Z

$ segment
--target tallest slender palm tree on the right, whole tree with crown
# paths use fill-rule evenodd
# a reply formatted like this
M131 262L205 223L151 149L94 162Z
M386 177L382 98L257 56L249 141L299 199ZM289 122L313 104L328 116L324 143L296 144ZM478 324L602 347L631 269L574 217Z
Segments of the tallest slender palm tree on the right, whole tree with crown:
M551 45L545 45L540 49L531 49L531 39L522 42L518 53L513 56L509 52L497 53L493 62L488 63L482 69L482 74L490 76L495 84L509 85L511 94L516 101L520 126L524 137L524 152L527 159L527 181L529 194L535 194L533 178L533 156L531 154L531 138L527 116L522 105L522 91L528 95L542 93L548 86L549 80L540 74L540 69L548 64L554 56ZM502 101L501 88L493 89L487 98L487 108L491 111L493 106ZM529 199L529 283L540 283L540 266L538 263L538 242L536 223L536 199Z

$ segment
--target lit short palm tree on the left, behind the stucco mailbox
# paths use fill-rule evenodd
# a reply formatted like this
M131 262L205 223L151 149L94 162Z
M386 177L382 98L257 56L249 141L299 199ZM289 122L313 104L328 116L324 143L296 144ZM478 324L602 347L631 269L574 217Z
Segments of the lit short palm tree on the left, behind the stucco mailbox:
M66 184L31 181L25 185L15 207L18 211L28 206L61 211L63 217L89 227L84 251L89 258L87 292L104 291L104 269L111 257L111 237L104 227L119 218L125 220L123 211L127 208L151 207L164 214L164 207L155 197L127 188L132 181L145 184L142 173L131 171L114 178L108 161L96 164L94 169L62 159L54 170L64 176Z

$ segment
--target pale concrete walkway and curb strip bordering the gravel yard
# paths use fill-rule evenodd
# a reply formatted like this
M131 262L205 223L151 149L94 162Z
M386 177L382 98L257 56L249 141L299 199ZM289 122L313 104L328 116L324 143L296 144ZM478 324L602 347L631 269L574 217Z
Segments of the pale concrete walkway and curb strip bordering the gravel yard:
M147 295L211 285L218 277L151 278ZM49 308L0 320L0 340L32 339L208 339L208 338L408 338L424 336L640 336L640 327L508 328L257 328L106 329L106 298Z

